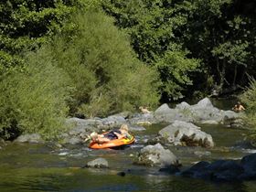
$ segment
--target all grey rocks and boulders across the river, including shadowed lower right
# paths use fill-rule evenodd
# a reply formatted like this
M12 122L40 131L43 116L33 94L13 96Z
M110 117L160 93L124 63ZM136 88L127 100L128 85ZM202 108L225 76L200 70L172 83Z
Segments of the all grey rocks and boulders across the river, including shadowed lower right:
M199 162L186 170L180 169L182 162L169 146L197 146L213 148L214 138L201 130L200 124L222 124L229 128L243 128L242 113L223 111L214 107L208 98L198 101L195 105L181 102L176 108L161 105L155 112L146 114L122 112L106 118L79 119L69 118L70 129L61 135L60 146L80 146L86 144L84 139L91 132L106 132L129 124L130 130L143 132L147 125L162 123L166 126L155 133L154 138L144 141L144 146L134 156L133 164L159 167L159 171L179 176L205 178L214 181L233 181L254 179L256 170L251 159L254 155L245 156L241 161L220 160L212 163ZM43 143L38 134L19 136L15 142ZM207 152L201 152L203 154ZM209 153L210 155L210 153ZM105 159L95 159L86 167L108 167Z

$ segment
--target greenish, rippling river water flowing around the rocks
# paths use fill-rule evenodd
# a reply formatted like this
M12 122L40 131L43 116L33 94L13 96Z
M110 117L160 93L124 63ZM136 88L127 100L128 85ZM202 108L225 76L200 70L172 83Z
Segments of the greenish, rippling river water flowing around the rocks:
M86 145L57 147L54 144L8 144L0 150L0 191L230 191L254 192L256 182L212 183L201 179L169 176L158 168L133 165L133 158L144 141L163 124L134 133L136 143L123 150L91 150ZM198 161L240 159L256 153L245 138L246 130L221 125L199 125L215 142L212 149L175 147L181 169ZM97 157L108 160L110 168L81 168ZM125 176L120 176L124 172Z

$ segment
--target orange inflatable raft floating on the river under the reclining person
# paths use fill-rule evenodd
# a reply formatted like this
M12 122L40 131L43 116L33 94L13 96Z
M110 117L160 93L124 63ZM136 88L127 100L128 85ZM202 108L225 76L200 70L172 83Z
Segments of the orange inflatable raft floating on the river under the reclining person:
M122 139L113 139L110 142L106 142L104 144L98 144L96 142L91 142L89 147L91 149L105 149L105 148L112 148L117 146L122 146L126 144L133 144L134 143L134 136L131 135L130 138L122 138Z

